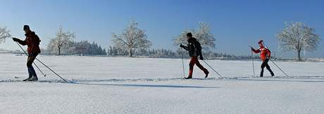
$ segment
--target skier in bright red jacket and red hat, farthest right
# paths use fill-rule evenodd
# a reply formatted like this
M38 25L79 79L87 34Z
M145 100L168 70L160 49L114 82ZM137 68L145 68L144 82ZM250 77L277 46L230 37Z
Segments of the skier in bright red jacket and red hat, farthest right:
M253 52L255 52L255 53L259 53L260 52L260 58L262 60L260 77L263 77L263 69L264 69L264 67L266 67L266 69L268 69L268 71L270 72L271 76L275 76L275 74L270 69L270 66L268 64L269 59L271 57L270 50L268 48L266 48L266 46L264 46L263 40L258 41L258 45L260 46L260 48L258 48L258 50L254 50L254 48L252 48L252 47L251 47L251 50Z

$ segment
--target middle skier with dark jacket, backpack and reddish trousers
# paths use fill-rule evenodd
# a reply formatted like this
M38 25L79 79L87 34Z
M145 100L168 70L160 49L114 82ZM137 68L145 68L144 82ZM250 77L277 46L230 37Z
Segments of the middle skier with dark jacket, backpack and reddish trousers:
M202 71L204 71L205 73L205 78L208 77L209 71L207 69L204 68L204 66L202 66L199 63L198 60L198 56L200 57L201 60L204 60L202 53L201 53L201 45L200 43L197 41L196 38L192 37L192 33L187 33L187 41L188 41L188 45L180 45L181 48L184 48L185 50L189 51L189 56L191 57L190 63L189 63L189 76L185 79L191 79L192 78L192 72L194 71L194 64L196 64L199 69L201 69Z

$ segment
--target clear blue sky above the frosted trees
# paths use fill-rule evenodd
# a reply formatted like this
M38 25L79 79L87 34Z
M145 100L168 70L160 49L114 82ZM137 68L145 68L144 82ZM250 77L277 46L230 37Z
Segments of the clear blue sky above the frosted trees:
M211 25L216 37L216 52L249 55L248 45L257 46L263 38L280 57L295 57L278 48L275 34L284 22L305 22L324 38L323 0L1 0L0 26L23 38L23 25L42 38L46 48L57 29L73 31L76 41L95 41L107 48L111 34L120 33L130 20L139 22L147 31L153 48L175 50L172 39L184 29L197 27L198 22ZM324 39L316 52L308 57L324 57ZM18 50L11 40L0 48Z

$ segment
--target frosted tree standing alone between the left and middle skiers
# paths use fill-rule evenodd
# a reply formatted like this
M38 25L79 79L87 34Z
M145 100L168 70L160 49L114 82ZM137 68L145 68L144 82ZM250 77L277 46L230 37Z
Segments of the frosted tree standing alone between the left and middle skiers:
M127 50L130 57L132 57L135 50L144 50L150 48L152 43L147 39L145 31L137 27L138 23L132 20L130 24L119 35L114 34L114 45L123 50Z

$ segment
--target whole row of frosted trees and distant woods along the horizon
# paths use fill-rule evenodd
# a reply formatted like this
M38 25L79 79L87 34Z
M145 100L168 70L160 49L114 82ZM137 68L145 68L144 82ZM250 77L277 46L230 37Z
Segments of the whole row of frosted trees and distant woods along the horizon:
M181 50L151 49L152 43L147 37L144 29L139 29L135 20L123 29L120 34L113 33L111 41L113 45L107 49L102 48L94 42L74 41L75 33L64 31L60 27L55 38L47 45L43 53L56 55L109 55L109 56L147 56L147 57L180 57ZM0 43L6 38L10 38L10 31L6 27L0 27ZM228 55L215 52L216 38L211 33L209 24L199 22L195 29L185 29L173 39L174 45L187 43L185 34L191 32L195 38L201 43L204 56L208 58L232 58L242 59L249 56ZM294 51L297 53L299 61L302 60L301 52L315 51L318 47L320 37L316 34L315 29L309 27L303 22L285 23L284 29L280 33L275 34L279 48L283 51ZM182 53L182 55L185 55ZM251 56L250 56L251 57Z

